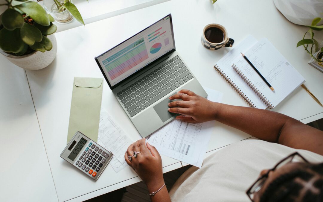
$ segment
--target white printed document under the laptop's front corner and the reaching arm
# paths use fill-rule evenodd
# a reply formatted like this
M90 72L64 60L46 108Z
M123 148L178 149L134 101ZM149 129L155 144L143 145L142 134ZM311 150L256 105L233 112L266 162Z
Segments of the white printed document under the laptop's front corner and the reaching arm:
M223 93L205 88L208 99L220 102ZM148 136L147 142L160 154L201 167L210 141L214 121L185 123L173 120Z

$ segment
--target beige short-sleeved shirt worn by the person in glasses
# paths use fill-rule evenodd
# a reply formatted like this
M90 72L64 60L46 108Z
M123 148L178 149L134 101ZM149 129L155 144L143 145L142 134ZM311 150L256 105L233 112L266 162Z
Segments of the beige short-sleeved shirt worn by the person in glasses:
M207 157L202 168L191 167L170 191L176 201L250 201L246 190L264 169L270 169L284 157L298 152L309 162L323 162L323 156L262 140L244 140L231 144Z

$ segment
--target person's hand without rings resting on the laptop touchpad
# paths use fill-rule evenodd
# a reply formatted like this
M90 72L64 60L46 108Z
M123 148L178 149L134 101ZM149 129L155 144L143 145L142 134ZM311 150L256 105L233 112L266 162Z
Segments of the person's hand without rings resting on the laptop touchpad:
M180 90L169 97L172 101L168 104L168 111L182 114L176 117L184 122L201 123L215 119L215 102L209 101L190 90Z

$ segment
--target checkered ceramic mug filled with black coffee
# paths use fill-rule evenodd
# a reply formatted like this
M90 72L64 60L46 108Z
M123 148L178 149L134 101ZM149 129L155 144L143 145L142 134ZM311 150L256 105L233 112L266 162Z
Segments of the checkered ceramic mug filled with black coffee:
M219 24L209 24L204 27L201 37L202 44L210 50L222 47L232 47L234 40L228 37L226 29Z

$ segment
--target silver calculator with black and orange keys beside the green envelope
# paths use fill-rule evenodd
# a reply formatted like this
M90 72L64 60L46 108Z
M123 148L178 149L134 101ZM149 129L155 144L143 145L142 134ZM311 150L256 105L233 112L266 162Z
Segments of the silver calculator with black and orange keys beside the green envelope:
M99 178L112 156L110 152L79 131L60 155L94 180Z

